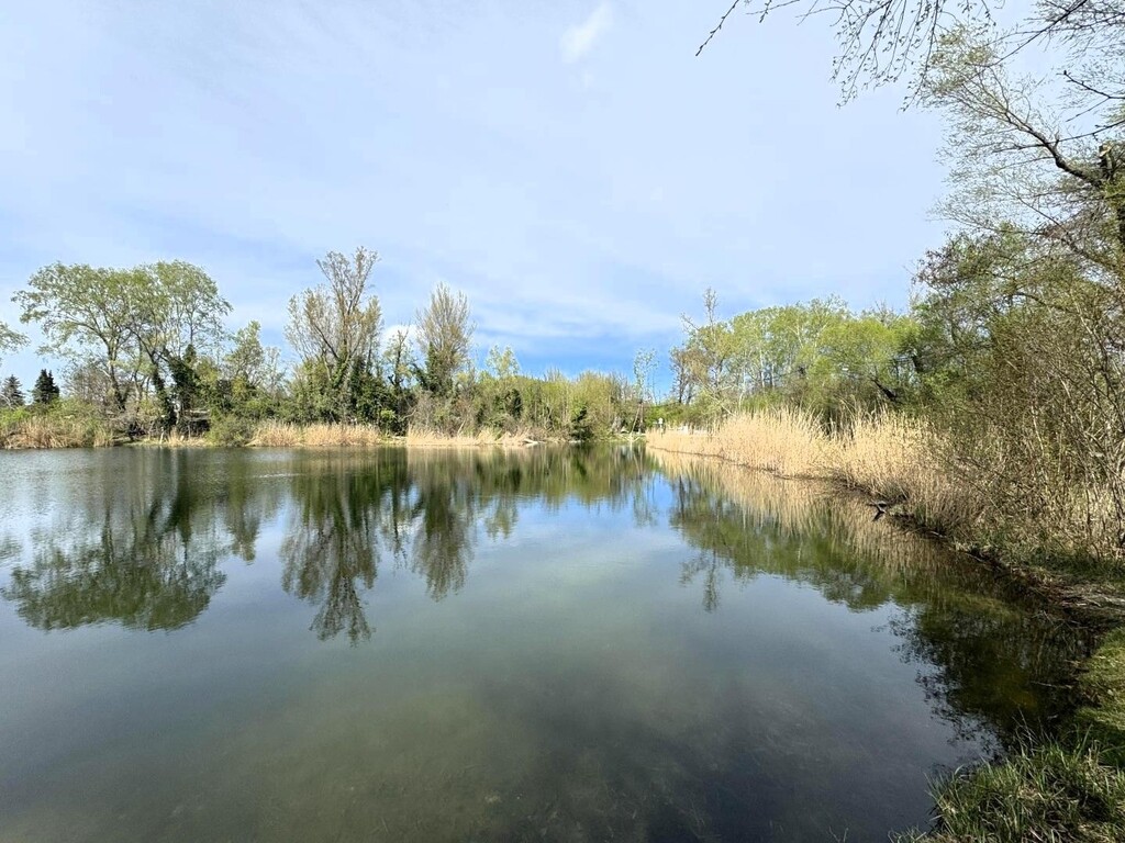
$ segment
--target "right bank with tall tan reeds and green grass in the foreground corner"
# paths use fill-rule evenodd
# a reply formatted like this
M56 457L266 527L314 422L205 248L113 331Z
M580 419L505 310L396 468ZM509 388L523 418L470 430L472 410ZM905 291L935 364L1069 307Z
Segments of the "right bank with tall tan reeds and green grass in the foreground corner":
M829 433L799 411L781 409L706 430L650 433L647 444L781 477L817 478L884 501L890 511L1027 574L1036 586L1061 583L1046 593L1070 608L1086 604L1091 622L1122 623L1119 547L1091 528L1089 508L1086 523L1076 523L1082 510L1068 504L1077 497L1097 501L1099 490L1056 496L1053 510L999 507L958 465L952 443L921 420L872 416ZM1056 740L1029 741L1006 759L938 782L935 828L902 840L1125 840L1125 627L1109 632L1083 669L1078 694L1086 705Z

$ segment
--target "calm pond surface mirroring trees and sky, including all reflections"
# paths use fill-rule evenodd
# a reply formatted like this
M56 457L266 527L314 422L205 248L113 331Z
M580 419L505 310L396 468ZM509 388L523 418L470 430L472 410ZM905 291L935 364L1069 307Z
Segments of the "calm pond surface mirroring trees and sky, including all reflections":
M629 450L0 454L0 841L885 840L1086 642Z

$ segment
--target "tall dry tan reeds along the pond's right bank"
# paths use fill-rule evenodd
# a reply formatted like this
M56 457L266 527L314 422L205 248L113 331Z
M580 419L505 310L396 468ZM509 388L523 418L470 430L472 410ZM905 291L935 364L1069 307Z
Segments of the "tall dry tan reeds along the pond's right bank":
M974 456L1001 445L982 436ZM735 416L711 429L650 432L658 451L727 460L781 477L808 477L885 501L889 511L981 556L1040 568L1122 595L1125 545L1106 489L1036 496L996 488L978 462L927 422L883 414L827 432L811 416L776 409ZM1125 615L1125 600L1122 601Z

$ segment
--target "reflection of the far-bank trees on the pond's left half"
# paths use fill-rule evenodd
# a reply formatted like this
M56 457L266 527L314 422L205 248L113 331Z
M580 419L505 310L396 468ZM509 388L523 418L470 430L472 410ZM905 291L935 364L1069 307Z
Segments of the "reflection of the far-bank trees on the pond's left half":
M225 581L222 560L252 562L263 524L285 507L284 589L317 607L320 638L358 643L371 637L364 592L381 564L408 568L441 600L464 588L482 533L511 537L521 500L548 509L629 501L638 518L654 518L644 514L648 465L631 450L115 456L53 490L55 517L30 531L30 560L0 590L28 624L182 627ZM0 550L20 559L14 537Z

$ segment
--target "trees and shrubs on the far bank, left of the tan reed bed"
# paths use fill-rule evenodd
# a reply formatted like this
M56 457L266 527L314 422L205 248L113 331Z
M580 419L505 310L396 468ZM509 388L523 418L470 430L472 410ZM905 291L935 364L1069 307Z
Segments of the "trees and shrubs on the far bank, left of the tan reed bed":
M182 261L133 269L54 264L14 297L24 323L38 326L40 353L66 361L69 409L92 408L130 437L210 433L245 441L255 423L368 424L388 435L407 426L438 433L492 428L590 439L637 429L644 380L587 371L521 372L511 347L495 346L478 369L467 297L439 284L410 329L384 332L372 284L379 261L364 247L317 261L323 280L288 302L285 336L297 360L264 345L261 326L225 327L231 305L199 266ZM15 348L25 337L3 328ZM34 407L60 390L44 371ZM11 377L3 406L25 404Z

